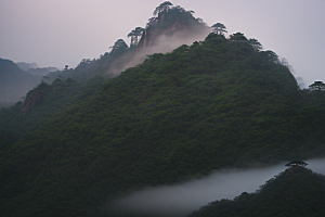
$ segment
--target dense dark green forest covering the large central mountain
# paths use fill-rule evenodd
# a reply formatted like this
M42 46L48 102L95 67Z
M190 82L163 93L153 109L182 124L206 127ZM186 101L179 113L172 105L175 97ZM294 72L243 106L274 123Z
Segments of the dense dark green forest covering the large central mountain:
M256 39L216 30L109 74L138 49L118 40L0 111L2 216L123 216L130 190L325 155L325 92Z

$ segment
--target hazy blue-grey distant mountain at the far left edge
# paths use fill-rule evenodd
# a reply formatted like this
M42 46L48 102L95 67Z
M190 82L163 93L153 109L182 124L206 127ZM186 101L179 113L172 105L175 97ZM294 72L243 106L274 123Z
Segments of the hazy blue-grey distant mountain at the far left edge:
M30 75L12 61L0 59L0 107L22 100L40 80L41 76Z

